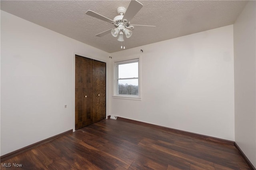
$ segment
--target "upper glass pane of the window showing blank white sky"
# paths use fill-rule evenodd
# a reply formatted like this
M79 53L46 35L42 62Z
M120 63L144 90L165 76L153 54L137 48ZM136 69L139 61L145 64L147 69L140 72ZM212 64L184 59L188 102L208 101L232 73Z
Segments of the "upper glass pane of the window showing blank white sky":
M118 65L118 79L133 77L138 77L138 62Z

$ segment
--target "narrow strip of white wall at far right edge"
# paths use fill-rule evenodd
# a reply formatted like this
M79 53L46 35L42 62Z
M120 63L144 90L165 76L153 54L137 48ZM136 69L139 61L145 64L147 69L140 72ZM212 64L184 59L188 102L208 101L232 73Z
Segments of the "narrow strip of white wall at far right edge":
M234 23L235 142L256 167L256 2Z

